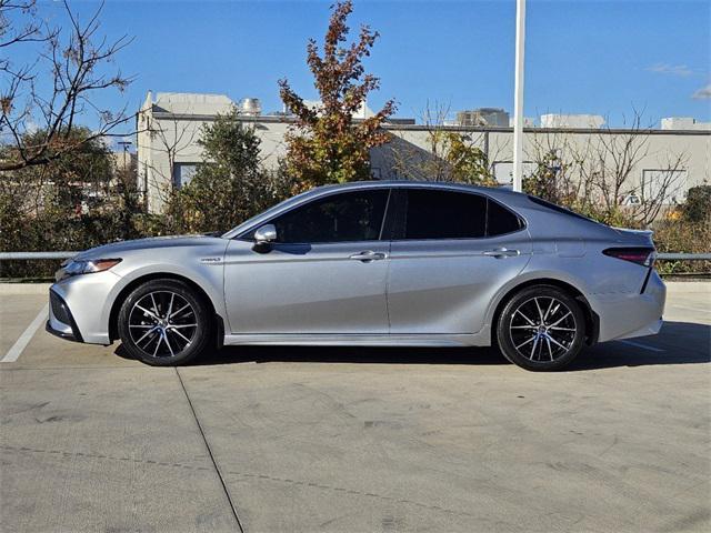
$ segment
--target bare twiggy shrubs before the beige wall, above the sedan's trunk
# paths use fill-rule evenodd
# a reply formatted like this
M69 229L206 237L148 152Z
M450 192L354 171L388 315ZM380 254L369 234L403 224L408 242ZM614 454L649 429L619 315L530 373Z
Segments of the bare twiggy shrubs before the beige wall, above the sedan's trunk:
M638 110L625 125L583 138L551 130L534 134L528 157L537 169L524 189L608 223L648 227L678 193L688 155L652 153L651 127ZM640 172L652 158L654 173Z

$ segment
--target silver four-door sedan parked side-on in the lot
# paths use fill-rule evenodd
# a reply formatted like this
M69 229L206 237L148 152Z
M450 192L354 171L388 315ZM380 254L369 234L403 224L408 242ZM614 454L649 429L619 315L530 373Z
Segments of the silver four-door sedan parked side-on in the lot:
M651 335L650 232L527 194L424 182L314 189L220 237L118 242L63 264L47 329L173 365L223 344L488 346L555 370Z

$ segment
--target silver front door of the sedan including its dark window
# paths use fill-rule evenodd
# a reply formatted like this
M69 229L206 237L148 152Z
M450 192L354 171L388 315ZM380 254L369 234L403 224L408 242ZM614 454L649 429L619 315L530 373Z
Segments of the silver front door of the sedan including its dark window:
M319 197L266 221L268 251L251 233L230 242L224 298L234 334L388 333L389 189Z

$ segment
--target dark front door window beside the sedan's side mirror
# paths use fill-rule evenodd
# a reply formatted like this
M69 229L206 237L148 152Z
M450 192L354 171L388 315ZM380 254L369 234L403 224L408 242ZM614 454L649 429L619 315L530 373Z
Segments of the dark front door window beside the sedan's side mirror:
M389 190L344 192L314 200L272 223L282 243L377 241Z

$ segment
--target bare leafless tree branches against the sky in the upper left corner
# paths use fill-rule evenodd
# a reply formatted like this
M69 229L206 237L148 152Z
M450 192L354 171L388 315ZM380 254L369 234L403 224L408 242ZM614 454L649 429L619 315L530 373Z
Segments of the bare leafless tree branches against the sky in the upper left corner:
M120 70L108 73L107 66L132 39L122 36L109 41L99 36L103 3L86 22L67 0L63 6L70 21L67 29L38 22L33 0L0 0L0 171L47 164L94 139L114 134L117 127L132 118L126 108L113 112L93 101L98 91L123 91L131 82ZM32 42L38 47L36 60L13 64L12 51ZM36 83L39 74L51 81ZM77 137L78 119L91 115L98 125L89 135ZM28 135L33 129L42 134Z

